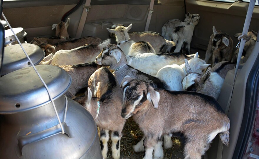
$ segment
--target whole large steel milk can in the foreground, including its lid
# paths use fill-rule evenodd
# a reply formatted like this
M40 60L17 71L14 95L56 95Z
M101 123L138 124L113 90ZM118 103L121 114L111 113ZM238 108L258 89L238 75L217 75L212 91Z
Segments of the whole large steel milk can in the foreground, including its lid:
M102 159L92 115L64 93L71 77L57 66L38 65L64 128L33 67L0 77L0 158Z

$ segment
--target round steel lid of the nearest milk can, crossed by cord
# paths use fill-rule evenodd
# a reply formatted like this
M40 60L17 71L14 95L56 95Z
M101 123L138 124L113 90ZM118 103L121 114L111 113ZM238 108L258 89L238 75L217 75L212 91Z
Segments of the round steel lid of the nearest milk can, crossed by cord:
M55 100L71 85L71 77L60 67L35 66ZM0 114L12 114L35 109L50 103L46 88L34 71L26 67L0 77Z

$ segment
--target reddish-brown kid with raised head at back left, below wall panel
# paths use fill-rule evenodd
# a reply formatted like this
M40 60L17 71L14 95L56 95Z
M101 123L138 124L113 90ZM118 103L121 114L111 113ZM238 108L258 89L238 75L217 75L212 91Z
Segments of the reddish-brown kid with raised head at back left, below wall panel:
M38 37L36 38L39 42L37 42L34 38L30 43L35 45L40 45L41 43L47 43L47 44L55 44L60 43L66 40L69 40L69 34L67 32L67 28L70 23L70 18L67 19L67 22L59 22L58 24L52 25L52 30L56 28L56 33L53 38L46 38L46 37Z

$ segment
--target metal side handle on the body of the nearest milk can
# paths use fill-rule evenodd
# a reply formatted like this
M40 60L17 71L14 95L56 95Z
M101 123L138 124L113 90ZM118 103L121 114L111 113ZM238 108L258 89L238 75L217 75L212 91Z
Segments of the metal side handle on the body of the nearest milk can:
M64 122L62 122L61 124L64 128L65 134L67 134L69 138L72 138L73 136L72 136L71 128L69 126L67 126L67 124ZM25 135L25 136L19 136L18 137L18 150L16 151L17 156L18 157L22 156L22 148L25 145L43 140L45 138L57 135L59 133L62 133L62 131L61 131L60 125L58 124L51 128L48 128L46 130L39 131L37 133L33 133L33 134Z

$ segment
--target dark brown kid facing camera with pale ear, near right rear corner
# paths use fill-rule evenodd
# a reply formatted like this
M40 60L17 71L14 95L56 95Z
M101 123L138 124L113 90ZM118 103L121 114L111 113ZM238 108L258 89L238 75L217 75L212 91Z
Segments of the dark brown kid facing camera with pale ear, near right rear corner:
M213 34L210 35L209 45L205 55L205 62L208 62L212 55L212 67L221 61L230 61L233 50L233 40L224 31L216 31L212 27Z

